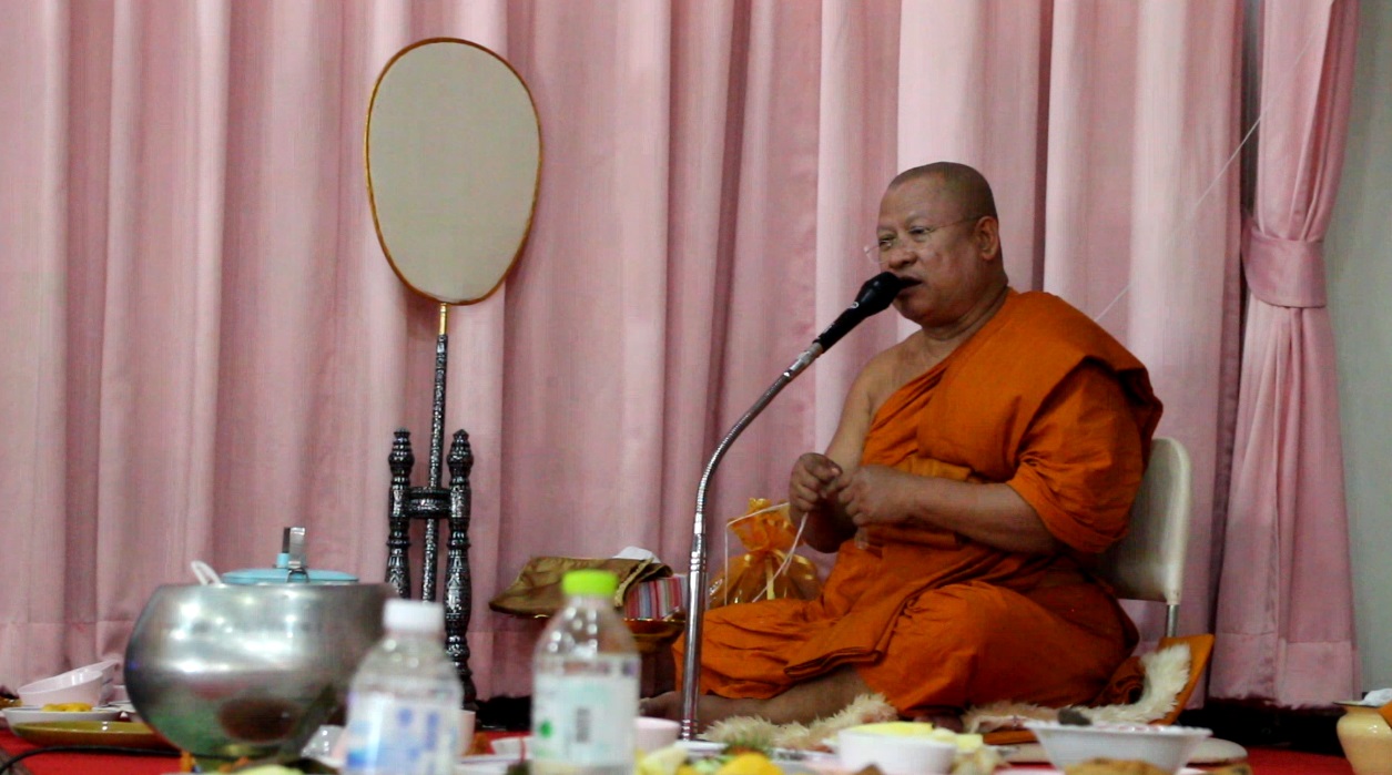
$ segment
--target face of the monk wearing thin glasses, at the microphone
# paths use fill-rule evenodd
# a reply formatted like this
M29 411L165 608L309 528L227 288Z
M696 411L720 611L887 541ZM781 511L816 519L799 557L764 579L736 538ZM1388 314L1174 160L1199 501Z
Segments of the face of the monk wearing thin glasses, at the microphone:
M995 218L967 211L935 178L891 186L876 238L880 266L912 282L894 306L919 326L951 327L999 291Z

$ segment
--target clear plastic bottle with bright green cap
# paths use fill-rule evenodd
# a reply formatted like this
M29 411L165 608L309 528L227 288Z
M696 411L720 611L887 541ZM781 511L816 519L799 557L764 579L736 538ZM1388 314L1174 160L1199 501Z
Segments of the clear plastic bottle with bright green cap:
M568 601L543 630L532 662L532 771L632 775L642 664L614 611L618 579L571 570L561 589Z

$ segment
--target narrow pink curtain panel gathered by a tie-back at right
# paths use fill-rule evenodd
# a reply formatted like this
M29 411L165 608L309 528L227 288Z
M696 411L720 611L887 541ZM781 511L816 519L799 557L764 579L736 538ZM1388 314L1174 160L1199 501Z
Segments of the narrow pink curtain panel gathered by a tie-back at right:
M1359 697L1322 241L1353 89L1353 0L1265 3L1251 289L1210 692Z

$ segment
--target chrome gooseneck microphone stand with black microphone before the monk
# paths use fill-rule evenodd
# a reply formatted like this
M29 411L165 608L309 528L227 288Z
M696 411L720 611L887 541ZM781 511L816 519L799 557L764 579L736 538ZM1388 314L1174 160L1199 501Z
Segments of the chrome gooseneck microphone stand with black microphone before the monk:
M848 331L855 328L862 320L870 317L877 312L888 309L889 303L894 301L895 295L903 289L905 282L895 277L892 273L884 271L860 287L860 294L856 296L855 303L841 313L825 331L821 333L809 346L792 362L782 374L774 380L774 384L768 385L768 390L759 397L759 401L749 408L748 412L729 429L729 433L720 441L715 447L715 452L711 454L710 462L706 463L706 470L702 473L700 486L696 487L696 519L692 525L692 558L690 570L686 577L686 654L682 660L682 728L681 736L683 740L692 740L696 737L697 732L697 700L700 697L700 651L702 651L702 629L706 619L707 608L707 555L710 547L707 545L707 525L706 525L706 491L710 488L711 476L715 473L715 466L725 456L729 445L739 438L739 434L749 427L749 423L754 422L754 417L764 410L766 406L777 397L782 388L788 387L788 383L793 381L798 374L803 373L812 362L821 356L823 352L831 349L831 345L837 344L841 337Z

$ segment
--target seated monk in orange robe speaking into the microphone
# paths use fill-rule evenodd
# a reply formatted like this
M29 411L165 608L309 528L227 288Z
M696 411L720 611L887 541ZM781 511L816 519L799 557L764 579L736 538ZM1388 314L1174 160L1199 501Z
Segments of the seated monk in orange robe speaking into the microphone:
M1160 420L1146 369L1063 301L1009 287L967 166L899 174L867 252L906 281L894 306L919 331L866 365L825 454L792 468L793 519L837 551L821 597L707 614L700 721L810 722L867 693L948 726L997 700L1087 703L1137 639L1089 570L1126 532ZM679 718L679 693L644 712Z

